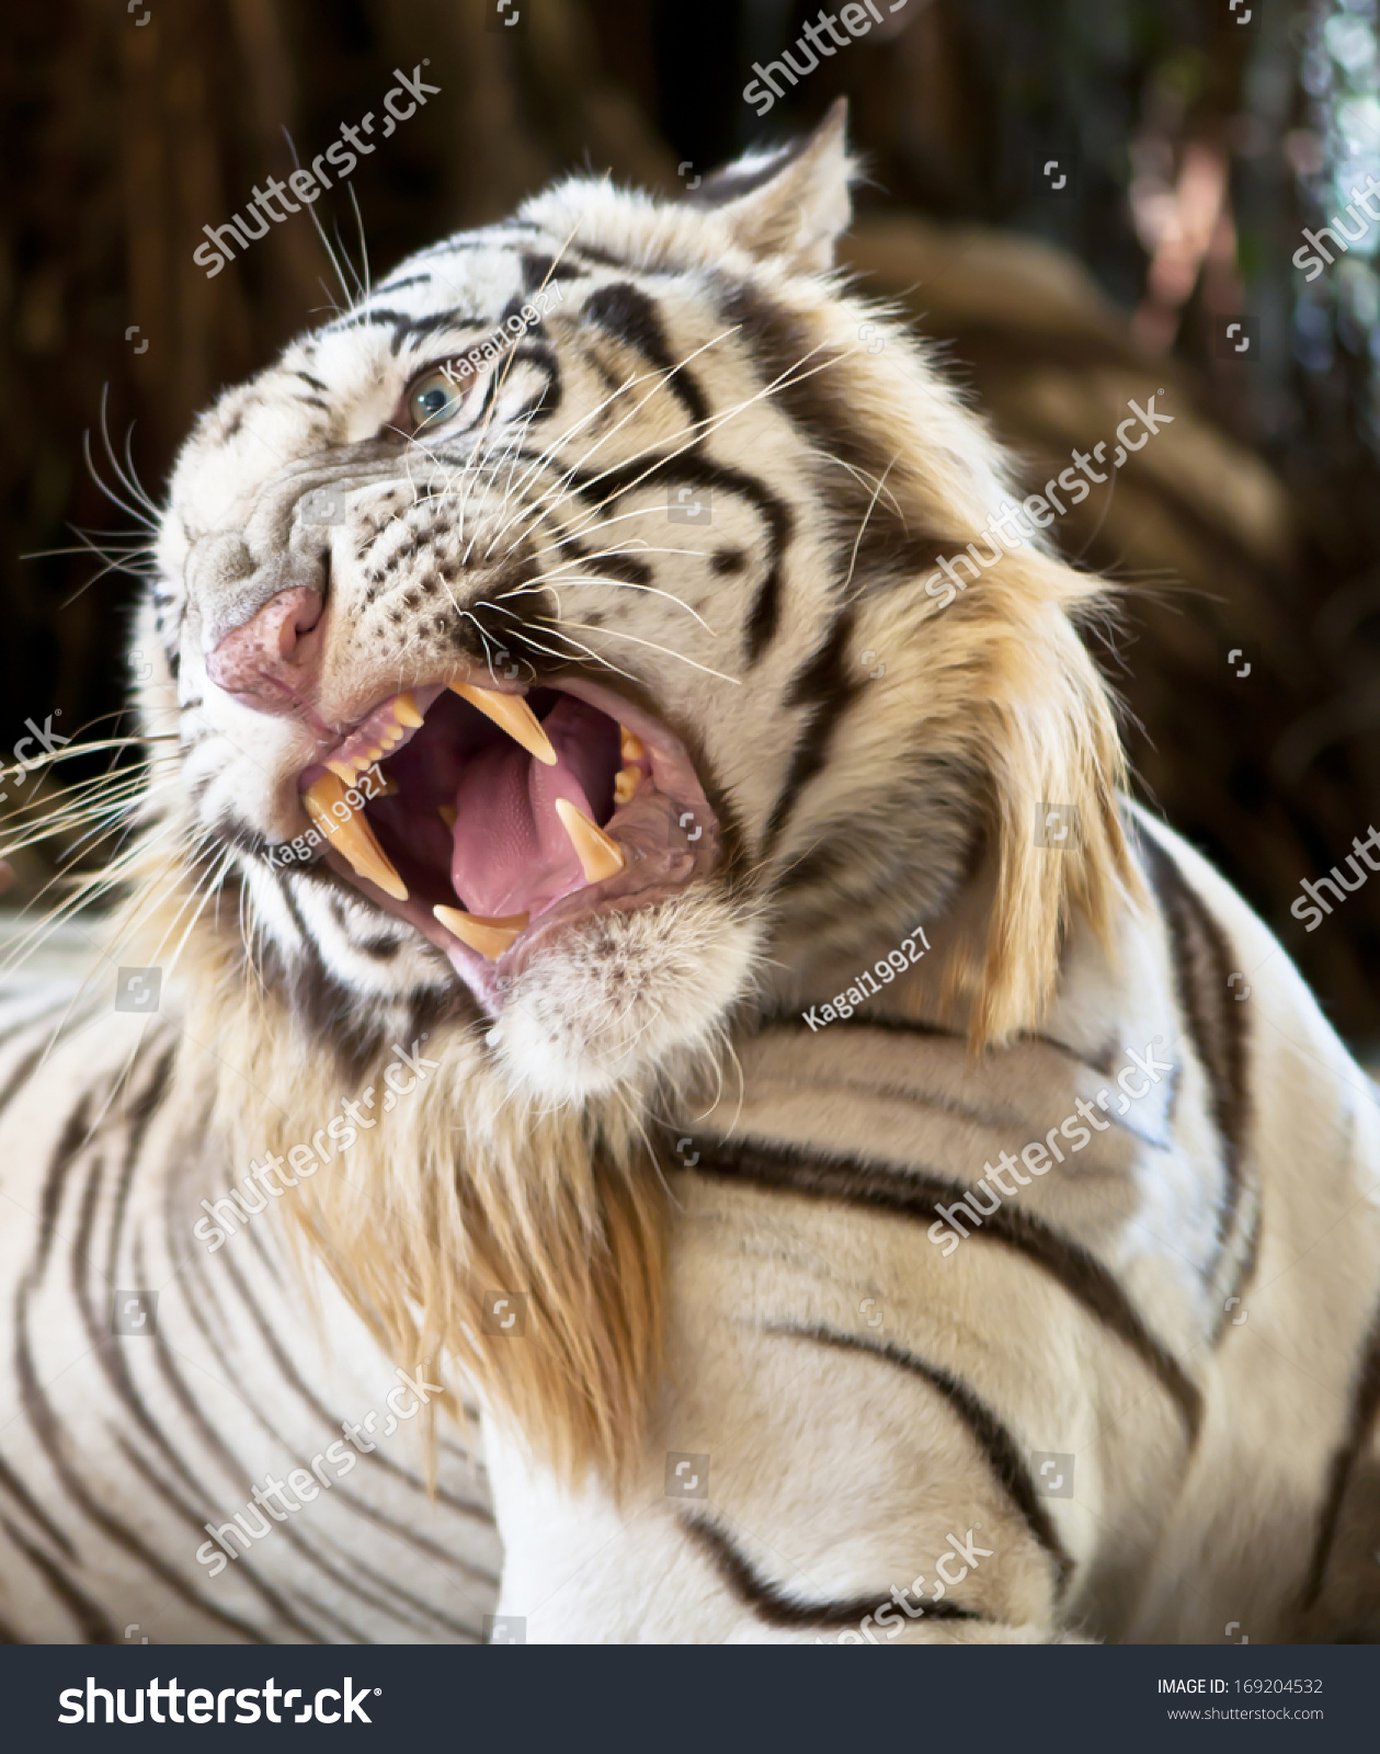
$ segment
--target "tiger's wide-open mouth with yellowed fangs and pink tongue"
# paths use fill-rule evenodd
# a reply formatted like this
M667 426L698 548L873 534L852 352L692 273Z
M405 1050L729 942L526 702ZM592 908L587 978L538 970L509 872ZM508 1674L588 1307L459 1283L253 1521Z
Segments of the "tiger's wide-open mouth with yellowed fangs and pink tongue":
M493 1014L561 926L661 902L719 847L680 740L584 679L393 695L298 786L333 868Z

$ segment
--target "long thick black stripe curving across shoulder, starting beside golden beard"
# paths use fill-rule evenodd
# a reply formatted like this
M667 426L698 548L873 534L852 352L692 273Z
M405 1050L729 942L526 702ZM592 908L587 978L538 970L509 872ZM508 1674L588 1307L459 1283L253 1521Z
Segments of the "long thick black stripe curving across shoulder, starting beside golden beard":
M968 1189L928 1170L898 1173L859 1158L819 1158L782 1145L694 1138L700 1163L693 1173L722 1175L782 1187L812 1200L838 1200L905 1217L914 1224L940 1221L940 1201L961 1200ZM1189 1440L1198 1438L1203 1394L1178 1359L1154 1338L1117 1279L1082 1244L1029 1212L999 1205L975 1231L987 1242L1014 1249L1049 1273L1154 1372L1178 1407Z

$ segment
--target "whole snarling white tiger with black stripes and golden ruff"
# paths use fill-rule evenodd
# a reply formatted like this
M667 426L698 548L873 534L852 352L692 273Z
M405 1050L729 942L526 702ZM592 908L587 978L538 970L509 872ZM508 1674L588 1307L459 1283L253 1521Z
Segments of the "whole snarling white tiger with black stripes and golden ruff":
M198 423L161 1016L0 1045L11 1636L1380 1635L1369 1086L1122 800L1098 582L926 589L1008 477L850 174L570 179Z

